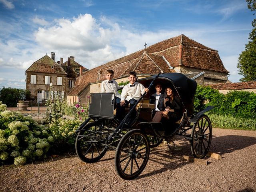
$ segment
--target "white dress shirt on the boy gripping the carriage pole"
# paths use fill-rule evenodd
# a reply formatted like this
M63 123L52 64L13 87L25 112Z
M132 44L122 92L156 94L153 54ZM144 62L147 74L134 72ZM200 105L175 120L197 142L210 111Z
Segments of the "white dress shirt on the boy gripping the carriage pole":
M124 86L121 93L121 101L130 101L131 99L139 100L141 95L144 94L145 87L142 84L135 82L134 87L130 87L130 85L132 84L128 83Z

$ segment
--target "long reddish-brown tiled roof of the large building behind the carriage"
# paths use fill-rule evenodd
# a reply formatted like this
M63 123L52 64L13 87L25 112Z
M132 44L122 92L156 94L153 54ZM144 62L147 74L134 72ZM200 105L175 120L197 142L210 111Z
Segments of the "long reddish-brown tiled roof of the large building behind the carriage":
M143 54L144 50L139 50L84 72L80 83L76 81L75 87L69 95L77 95L82 92L90 83L97 81L97 73L104 74L107 69L114 71L114 78L127 75L131 70L135 70L138 74L156 74L160 70L172 72L168 64L172 67L180 65L180 44L182 45L181 64L183 66L228 73L220 60L218 51L191 40L182 34L149 46L146 48L147 55ZM99 81L102 80L105 80L105 75L100 76Z

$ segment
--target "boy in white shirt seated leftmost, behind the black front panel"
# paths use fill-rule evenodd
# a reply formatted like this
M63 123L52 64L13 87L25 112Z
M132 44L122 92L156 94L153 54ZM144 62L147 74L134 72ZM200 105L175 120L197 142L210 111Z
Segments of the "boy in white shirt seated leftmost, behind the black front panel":
M118 93L118 89L123 86L118 86L117 82L113 80L114 71L111 69L107 70L106 80L101 83L101 92L102 93L114 93L115 94L115 107L116 107L116 118L120 120L120 93Z

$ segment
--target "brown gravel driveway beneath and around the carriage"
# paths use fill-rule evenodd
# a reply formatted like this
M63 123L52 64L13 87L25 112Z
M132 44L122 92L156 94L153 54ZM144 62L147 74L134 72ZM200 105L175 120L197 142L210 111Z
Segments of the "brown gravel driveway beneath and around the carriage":
M175 136L182 150L166 144L151 149L148 164L132 181L122 180L114 168L115 151L94 164L77 156L47 158L24 166L0 168L0 191L256 191L256 131L213 129L210 151L221 160L208 158L208 165L186 162L190 145Z

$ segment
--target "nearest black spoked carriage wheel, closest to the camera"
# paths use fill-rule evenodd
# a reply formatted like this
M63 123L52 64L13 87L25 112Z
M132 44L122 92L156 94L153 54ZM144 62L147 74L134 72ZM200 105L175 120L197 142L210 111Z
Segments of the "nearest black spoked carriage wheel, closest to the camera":
M139 129L130 130L120 140L116 148L115 168L125 180L132 180L140 175L149 158L148 137Z

